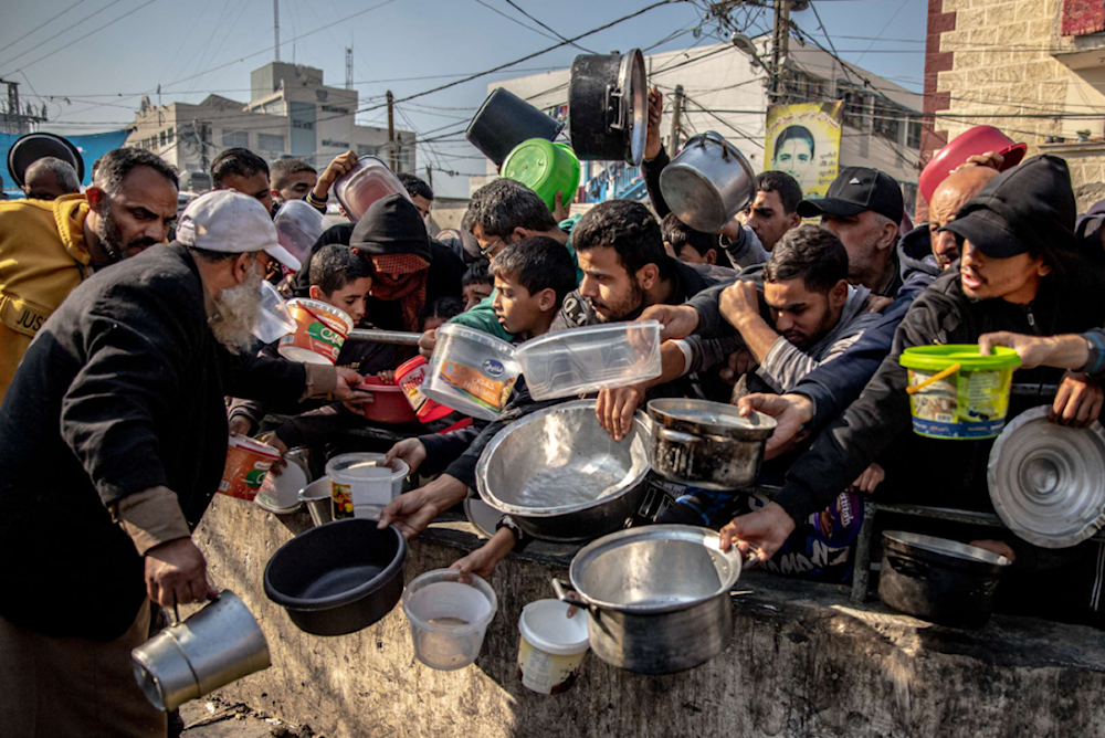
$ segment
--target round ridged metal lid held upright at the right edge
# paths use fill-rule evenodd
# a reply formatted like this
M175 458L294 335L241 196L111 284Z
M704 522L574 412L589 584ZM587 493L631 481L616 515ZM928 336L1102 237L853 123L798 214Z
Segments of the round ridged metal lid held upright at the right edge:
M1044 548L1081 544L1105 526L1105 429L1048 420L1046 405L1006 425L990 450L990 502L1019 537Z

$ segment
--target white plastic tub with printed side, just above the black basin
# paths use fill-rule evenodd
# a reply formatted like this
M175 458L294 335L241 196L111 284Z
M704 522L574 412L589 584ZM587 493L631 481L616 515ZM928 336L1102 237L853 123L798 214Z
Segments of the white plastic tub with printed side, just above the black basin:
M400 458L383 464L383 454L341 454L326 462L334 519L377 518L403 492L410 467Z

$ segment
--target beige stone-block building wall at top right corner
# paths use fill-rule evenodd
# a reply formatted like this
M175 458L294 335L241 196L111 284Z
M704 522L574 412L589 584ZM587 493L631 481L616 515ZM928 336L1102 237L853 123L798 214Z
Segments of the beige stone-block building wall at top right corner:
M925 112L938 117L922 149L930 155L972 126L997 126L1029 144L1028 156L1066 158L1084 210L1105 181L1105 39L1061 35L1062 4L929 0ZM1091 141L1045 143L1074 141L1078 130Z

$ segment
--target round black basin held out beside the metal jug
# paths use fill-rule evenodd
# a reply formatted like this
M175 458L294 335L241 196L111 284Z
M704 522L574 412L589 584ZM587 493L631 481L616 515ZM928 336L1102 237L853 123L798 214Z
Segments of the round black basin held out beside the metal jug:
M335 520L284 544L265 567L265 594L315 635L345 635L380 620L403 593L407 541L394 526L376 525Z

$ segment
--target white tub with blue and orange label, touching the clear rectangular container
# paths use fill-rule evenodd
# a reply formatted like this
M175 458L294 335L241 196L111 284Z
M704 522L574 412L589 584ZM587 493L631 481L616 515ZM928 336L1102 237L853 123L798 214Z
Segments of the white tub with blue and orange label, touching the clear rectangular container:
M497 419L522 376L514 347L452 323L438 328L436 337L422 392L466 415Z

